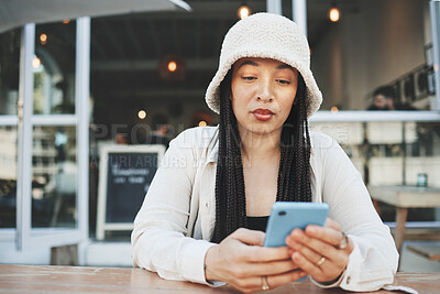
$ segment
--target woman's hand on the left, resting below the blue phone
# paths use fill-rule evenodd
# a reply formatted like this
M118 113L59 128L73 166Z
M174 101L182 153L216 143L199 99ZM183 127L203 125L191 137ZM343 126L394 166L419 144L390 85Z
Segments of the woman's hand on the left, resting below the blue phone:
M211 247L205 258L206 280L251 293L263 290L264 276L274 288L306 275L292 261L287 247L263 247L264 236L262 231L238 229Z

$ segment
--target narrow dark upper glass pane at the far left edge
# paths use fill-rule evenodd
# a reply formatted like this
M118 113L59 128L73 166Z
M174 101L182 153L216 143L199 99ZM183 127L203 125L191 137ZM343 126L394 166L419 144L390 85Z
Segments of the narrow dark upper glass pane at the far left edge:
M15 115L19 100L20 30L0 34L0 115Z

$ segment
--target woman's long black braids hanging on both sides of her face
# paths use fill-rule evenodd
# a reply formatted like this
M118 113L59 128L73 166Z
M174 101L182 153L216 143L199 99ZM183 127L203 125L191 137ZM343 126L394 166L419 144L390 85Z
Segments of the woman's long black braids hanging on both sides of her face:
M248 227L241 140L230 100L231 78L230 70L220 85L216 225L212 238L212 241L218 243L238 228ZM283 126L279 146L276 200L311 202L306 84L299 73L295 105Z

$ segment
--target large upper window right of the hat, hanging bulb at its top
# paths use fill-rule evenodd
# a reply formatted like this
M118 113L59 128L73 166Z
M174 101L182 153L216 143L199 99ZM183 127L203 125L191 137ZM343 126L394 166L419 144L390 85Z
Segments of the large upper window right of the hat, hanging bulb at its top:
M322 110L432 110L435 75L429 1L308 2L311 66Z

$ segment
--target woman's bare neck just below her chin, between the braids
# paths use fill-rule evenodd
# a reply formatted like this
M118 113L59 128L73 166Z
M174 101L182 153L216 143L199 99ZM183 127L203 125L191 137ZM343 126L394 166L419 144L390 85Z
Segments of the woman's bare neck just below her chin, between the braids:
M241 139L241 153L243 163L252 164L257 161L272 161L279 157L280 130L271 133L256 134L239 127Z

